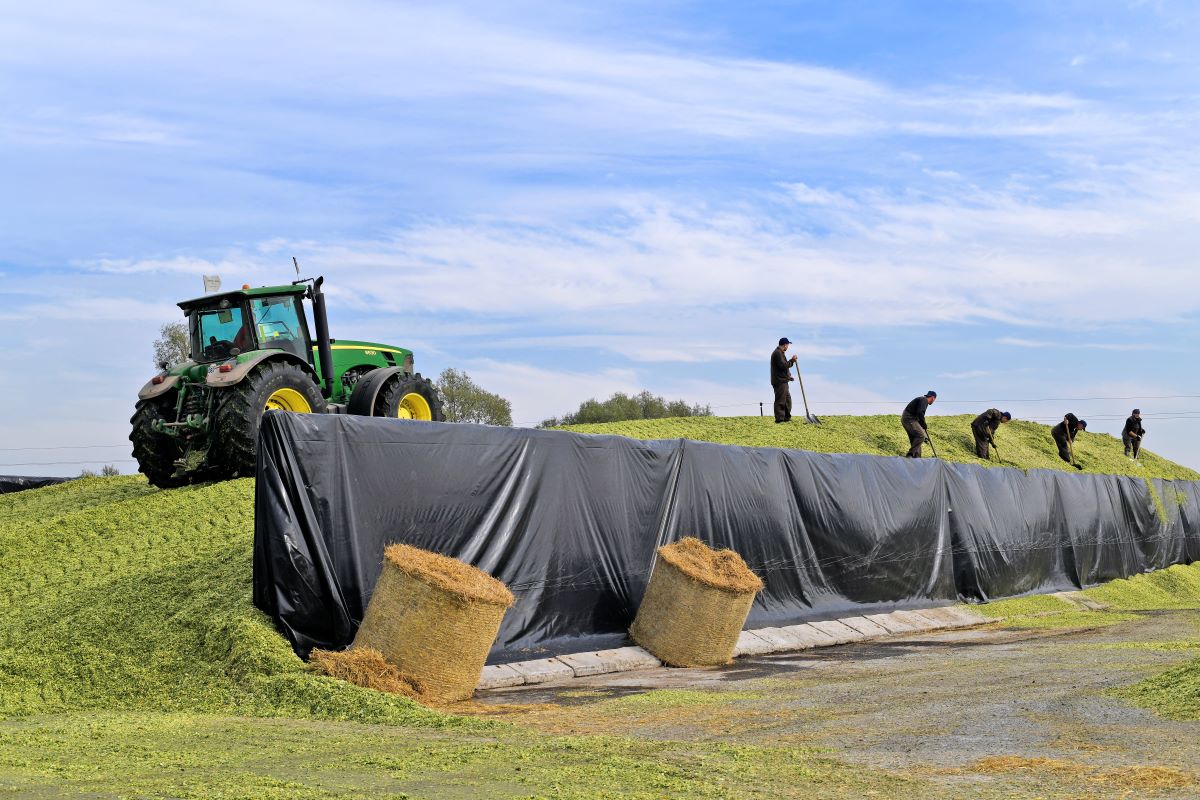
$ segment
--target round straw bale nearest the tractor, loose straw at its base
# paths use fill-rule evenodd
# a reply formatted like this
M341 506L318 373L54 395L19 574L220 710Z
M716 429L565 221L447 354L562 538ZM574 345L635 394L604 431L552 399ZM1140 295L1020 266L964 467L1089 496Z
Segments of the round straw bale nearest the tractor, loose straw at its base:
M391 545L353 648L373 648L420 685L419 698L472 696L512 593L445 555Z

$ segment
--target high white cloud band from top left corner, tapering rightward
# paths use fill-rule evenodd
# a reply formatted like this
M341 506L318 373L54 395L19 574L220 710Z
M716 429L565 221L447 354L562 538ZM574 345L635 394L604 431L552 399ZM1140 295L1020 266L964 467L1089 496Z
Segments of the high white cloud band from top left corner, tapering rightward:
M137 25L128 24L130 17ZM114 48L112 41L121 46ZM278 42L288 42L294 58L280 58ZM311 1L241 4L224 5L218 16L208 6L59 4L53 12L23 10L19 19L0 25L0 48L11 68L48 71L46 53L53 52L55 70L71 65L157 97L157 109L134 113L102 108L84 95L74 98L78 108L55 109L31 95L24 98L23 116L40 116L43 126L10 130L24 142L84 131L126 143L205 142L238 149L275 142L280 125L306 142L313 134L338 138L352 131L366 145L396 140L395 128L361 112L329 116L276 100L296 86L304 86L310 106L336 103L338 109L396 103L444 112L448 102L499 102L510 116L492 125L520 131L516 142L536 137L558 144L570 130L583 132L587 146L640 155L648 146L677 148L679 136L1096 140L1147 130L1139 120L1062 92L972 84L899 88L821 65L572 40L416 4L360 0L336 10ZM228 136L230 106L239 119L258 121L248 130L239 126L238 138ZM553 134L538 136L540 131Z

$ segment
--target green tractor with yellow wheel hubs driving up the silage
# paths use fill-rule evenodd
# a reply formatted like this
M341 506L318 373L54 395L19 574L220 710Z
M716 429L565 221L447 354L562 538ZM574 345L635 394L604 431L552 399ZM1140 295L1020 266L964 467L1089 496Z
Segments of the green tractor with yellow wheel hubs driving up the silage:
M133 457L150 483L253 475L258 426L269 409L444 419L433 383L413 372L412 350L329 337L323 282L246 285L179 303L191 357L160 365L130 420Z

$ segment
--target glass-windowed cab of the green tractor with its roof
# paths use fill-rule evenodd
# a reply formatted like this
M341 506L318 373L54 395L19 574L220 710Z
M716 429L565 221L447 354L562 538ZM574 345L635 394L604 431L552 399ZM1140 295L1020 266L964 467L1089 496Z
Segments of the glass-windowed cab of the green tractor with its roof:
M305 287L263 287L179 303L187 314L192 361L212 363L253 350L284 350L312 362Z

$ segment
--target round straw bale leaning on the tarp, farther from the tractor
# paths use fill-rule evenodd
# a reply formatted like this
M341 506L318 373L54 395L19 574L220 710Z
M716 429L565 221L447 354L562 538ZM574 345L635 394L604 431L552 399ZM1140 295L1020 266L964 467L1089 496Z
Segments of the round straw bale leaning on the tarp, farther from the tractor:
M674 667L728 663L760 589L762 581L733 551L680 539L659 548L629 633Z

